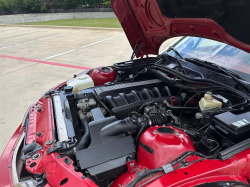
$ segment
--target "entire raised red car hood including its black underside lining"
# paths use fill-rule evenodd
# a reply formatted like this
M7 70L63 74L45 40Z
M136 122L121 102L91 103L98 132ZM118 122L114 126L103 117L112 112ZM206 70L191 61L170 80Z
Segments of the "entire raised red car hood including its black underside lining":
M250 53L248 0L111 0L137 57L176 36L224 42Z

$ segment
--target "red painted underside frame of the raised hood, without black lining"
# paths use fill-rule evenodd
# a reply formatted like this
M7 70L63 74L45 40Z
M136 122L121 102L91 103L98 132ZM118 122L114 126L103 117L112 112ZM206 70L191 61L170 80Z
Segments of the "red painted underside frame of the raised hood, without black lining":
M140 29L131 13L134 13ZM132 49L139 40L142 47L137 57L159 54L161 44L177 36L195 36L212 39L235 46L250 52L250 45L245 44L228 34L223 27L209 18L168 18L164 16L156 0L111 0L112 8L128 37ZM138 47L138 48L139 48Z

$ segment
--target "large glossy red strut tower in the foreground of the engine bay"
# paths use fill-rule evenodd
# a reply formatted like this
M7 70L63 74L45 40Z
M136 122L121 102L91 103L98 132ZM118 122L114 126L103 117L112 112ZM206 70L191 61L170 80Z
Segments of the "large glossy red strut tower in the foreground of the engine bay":
M189 136L178 129L169 127L175 132L173 134L163 134L157 131L159 127L151 127L144 131L140 141L154 150L150 154L139 146L138 165L148 169L155 169L170 163L187 151L195 151Z

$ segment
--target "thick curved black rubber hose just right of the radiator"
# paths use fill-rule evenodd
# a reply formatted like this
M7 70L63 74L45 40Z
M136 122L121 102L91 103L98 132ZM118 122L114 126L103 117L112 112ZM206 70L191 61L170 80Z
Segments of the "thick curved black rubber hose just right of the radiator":
M84 115L81 110L78 112L78 114L80 117L84 135L82 136L81 140L76 145L76 151L86 149L87 147L89 147L90 142L91 142L90 131L89 131L89 119L87 115Z

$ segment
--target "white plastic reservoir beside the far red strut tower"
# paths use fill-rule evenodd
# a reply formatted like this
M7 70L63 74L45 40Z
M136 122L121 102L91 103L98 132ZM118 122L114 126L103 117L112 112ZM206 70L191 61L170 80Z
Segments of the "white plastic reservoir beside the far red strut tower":
M73 91L75 94L77 94L79 91L90 88L94 86L94 82L92 78L89 75L83 74L79 77L75 77L73 79L70 79L67 82L67 86L72 86Z

